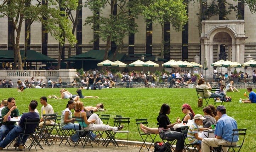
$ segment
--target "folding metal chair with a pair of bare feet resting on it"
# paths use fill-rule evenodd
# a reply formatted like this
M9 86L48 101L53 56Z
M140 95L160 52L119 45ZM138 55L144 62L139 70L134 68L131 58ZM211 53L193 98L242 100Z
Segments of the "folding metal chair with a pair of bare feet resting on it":
M148 127L148 119L147 118L135 119L135 121L136 121L136 124L137 124L137 128L138 128L139 134L140 134L141 139L143 141L143 144L141 145L141 148L140 148L139 152L141 151L143 145L145 145L147 150L149 151L150 147L153 144L155 144L154 140L157 137L157 134L144 133L143 131L141 131L140 124L146 125ZM152 141L149 147L146 144L146 140L147 140L148 137L150 137L150 139L151 139L150 142Z

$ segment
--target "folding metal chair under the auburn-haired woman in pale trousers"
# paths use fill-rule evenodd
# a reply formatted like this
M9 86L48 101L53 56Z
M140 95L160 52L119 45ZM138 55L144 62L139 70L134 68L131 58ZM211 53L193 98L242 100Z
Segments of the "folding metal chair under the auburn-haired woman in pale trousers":
M85 145L92 146L91 139L89 138L90 131L84 130L84 128L87 126L85 126L83 117L73 117L73 121L74 121L74 128L75 128L75 123L78 123L80 125L80 129L78 129L78 130L75 129L75 134L78 134L78 136L79 136L79 139L78 139L78 141L76 141L75 146L77 146L79 144L79 142L81 142L81 144L83 145L83 148L85 147Z

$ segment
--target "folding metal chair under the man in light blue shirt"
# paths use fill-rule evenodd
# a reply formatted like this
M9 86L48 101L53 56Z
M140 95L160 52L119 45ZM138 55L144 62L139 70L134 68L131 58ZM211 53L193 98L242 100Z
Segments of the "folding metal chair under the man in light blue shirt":
M245 135L246 135L246 130L247 130L247 128L244 128L244 129L233 129L232 130L233 133L231 134L232 135L231 144L228 145L228 146L221 146L222 151L224 151L223 147L227 147L228 151L230 149L232 149L233 152L235 152L235 148L239 148L238 151L237 151L237 152L239 152L241 150L243 144L244 144L244 138L245 138ZM232 146L232 142L233 142L235 136L239 136L239 141L237 142L237 145Z

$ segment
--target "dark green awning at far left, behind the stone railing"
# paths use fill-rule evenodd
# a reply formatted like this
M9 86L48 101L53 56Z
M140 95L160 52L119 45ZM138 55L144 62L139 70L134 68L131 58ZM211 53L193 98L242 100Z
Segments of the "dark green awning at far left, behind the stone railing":
M21 52L21 59L24 59L24 50L20 50ZM0 57L1 55L5 55L7 56L9 59L5 60L5 59L1 59L1 61L5 60L5 61L10 61L13 62L13 51L12 50L0 50ZM50 58L44 54L41 54L39 52L36 52L34 50L28 50L27 51L27 62L58 62L56 59Z

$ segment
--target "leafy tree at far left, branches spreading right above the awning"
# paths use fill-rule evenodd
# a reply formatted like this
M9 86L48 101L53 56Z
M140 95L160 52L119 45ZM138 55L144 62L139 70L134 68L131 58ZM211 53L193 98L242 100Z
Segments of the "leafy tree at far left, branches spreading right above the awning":
M0 4L0 12L3 14L1 17L8 17L13 25L12 29L12 45L14 51L14 68L16 68L16 60L18 60L18 69L22 70L22 59L19 51L19 40L22 31L22 24L26 20L28 21L28 29L30 25L35 22L41 22L42 25L46 27L48 32L50 32L56 40L61 44L64 44L63 37L66 36L70 43L76 42L74 35L72 35L70 30L69 21L62 14L54 0L47 1L47 5L42 5L41 1L37 0L37 4L32 3L32 0L5 0ZM69 3L68 3L69 2ZM72 0L66 1L66 5L74 5ZM45 18L47 20L45 20ZM58 25L61 25L60 28ZM63 31L65 35L63 34ZM29 32L29 31L28 31ZM27 41L29 39L29 34L25 38L25 49L27 48ZM60 60L59 60L60 63ZM60 65L60 64L59 64Z

